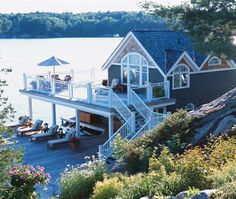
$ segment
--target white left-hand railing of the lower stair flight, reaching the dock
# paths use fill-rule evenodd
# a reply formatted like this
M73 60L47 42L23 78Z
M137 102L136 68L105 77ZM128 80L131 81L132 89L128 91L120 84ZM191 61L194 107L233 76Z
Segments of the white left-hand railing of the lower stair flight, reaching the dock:
M99 154L100 158L107 158L111 156L112 154L112 144L117 137L117 135L120 135L122 138L127 138L130 135L132 135L134 132L132 132L132 123L133 123L133 118L134 116L132 115L128 121L126 121L111 137L108 139L103 145L99 146Z

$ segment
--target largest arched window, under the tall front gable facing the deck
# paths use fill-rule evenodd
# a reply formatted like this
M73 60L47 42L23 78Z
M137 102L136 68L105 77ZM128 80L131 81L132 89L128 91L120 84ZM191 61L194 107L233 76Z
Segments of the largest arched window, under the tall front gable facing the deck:
M148 62L138 53L129 53L121 61L121 82L144 85L148 81Z

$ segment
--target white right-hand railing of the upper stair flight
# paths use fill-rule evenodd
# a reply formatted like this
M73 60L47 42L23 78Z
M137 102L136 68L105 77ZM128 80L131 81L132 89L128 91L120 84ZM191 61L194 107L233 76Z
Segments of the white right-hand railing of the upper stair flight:
M132 89L130 89L130 103L146 119L146 121L150 119L151 110Z

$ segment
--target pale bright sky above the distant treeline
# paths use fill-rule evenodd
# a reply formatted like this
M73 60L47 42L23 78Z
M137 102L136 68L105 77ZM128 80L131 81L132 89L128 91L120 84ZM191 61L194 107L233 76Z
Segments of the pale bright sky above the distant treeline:
M0 0L0 13L27 12L96 12L140 11L138 3L144 0ZM176 4L181 0L153 0L161 4Z

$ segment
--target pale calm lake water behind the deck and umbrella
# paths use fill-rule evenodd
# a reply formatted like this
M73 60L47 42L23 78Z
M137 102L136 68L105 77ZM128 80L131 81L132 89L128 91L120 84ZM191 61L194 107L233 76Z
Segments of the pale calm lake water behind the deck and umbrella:
M0 39L0 66L13 69L6 76L9 83L6 95L17 111L16 118L28 114L27 97L18 91L23 85L23 73L49 72L51 68L39 67L37 64L55 55L70 63L57 67L57 72L94 68L95 81L99 81L106 78L106 72L101 71L101 66L120 41L121 38ZM89 80L89 75L79 73L76 79ZM33 116L34 119L40 118L51 123L51 104L33 100ZM62 116L74 116L74 110L57 106L57 120Z

